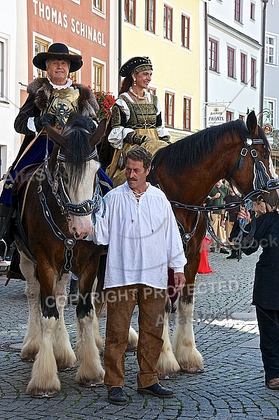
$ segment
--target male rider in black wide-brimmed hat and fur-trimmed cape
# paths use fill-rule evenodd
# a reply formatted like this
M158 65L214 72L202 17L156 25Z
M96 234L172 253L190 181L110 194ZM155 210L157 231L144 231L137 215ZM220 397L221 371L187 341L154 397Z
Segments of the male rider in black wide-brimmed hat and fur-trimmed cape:
M15 130L25 134L25 138L1 193L1 216L8 214L12 209L11 190L20 170L43 162L46 149L49 154L53 150L53 142L47 139L43 128L45 123L61 131L73 111L88 116L92 120L94 130L98 123L99 106L95 94L88 87L73 83L69 77L69 73L81 69L81 55L69 54L67 45L63 43L53 43L47 52L39 52L33 58L33 64L38 69L47 71L48 76L36 78L28 85L29 95L15 118ZM10 246L13 241L11 223L5 231L4 239L8 242L7 246ZM1 234L3 236L3 232ZM1 244L4 246L3 241ZM7 276L9 279L18 278L18 273L13 273L13 263Z

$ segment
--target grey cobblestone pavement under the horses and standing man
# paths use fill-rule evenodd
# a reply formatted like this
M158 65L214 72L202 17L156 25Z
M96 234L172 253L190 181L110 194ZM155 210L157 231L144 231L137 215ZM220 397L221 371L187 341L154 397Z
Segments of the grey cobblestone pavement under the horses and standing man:
M258 255L240 262L210 253L215 274L198 274L196 281L196 344L205 360L203 374L177 374L162 381L175 398L159 400L137 394L137 359L126 357L127 406L109 405L102 388L81 388L75 370L60 372L62 390L55 398L25 394L31 363L20 360L28 316L25 283L0 277L0 419L279 419L279 391L264 386L264 370L254 307L250 304ZM132 324L137 330L137 314ZM75 307L65 310L72 344L76 339ZM171 317L173 332L175 315ZM100 321L104 337L105 319Z

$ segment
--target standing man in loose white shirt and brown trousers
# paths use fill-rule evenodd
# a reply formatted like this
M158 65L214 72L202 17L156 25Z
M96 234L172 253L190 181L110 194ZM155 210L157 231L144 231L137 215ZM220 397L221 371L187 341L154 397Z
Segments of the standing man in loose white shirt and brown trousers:
M186 258L175 216L165 194L147 183L152 155L135 146L126 155L127 181L104 200L93 233L96 244L109 244L104 288L107 331L104 349L109 402L124 405L125 349L135 304L139 308L137 392L170 398L158 382L156 364L163 346L163 315L168 267L174 269L176 291L185 283Z

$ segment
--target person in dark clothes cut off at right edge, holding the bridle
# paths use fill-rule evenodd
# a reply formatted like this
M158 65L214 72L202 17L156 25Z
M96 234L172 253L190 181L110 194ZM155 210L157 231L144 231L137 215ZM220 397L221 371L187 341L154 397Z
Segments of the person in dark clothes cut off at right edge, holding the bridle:
M279 389L279 210L256 218L256 230L245 255L262 248L256 264L252 304L256 307L259 325L261 358L264 364L266 386ZM242 208L239 219L250 221L250 212ZM249 232L251 224L245 226ZM231 238L236 238L240 228L236 224ZM247 234L244 234L247 235Z

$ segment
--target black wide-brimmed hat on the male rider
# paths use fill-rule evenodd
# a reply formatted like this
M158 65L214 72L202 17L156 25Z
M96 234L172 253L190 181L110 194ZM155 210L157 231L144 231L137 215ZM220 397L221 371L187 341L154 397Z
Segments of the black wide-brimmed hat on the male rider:
M35 55L33 64L38 69L46 70L47 59L67 59L71 63L69 73L79 70L83 65L81 55L69 54L67 45L59 42L50 45L47 52L39 52Z

